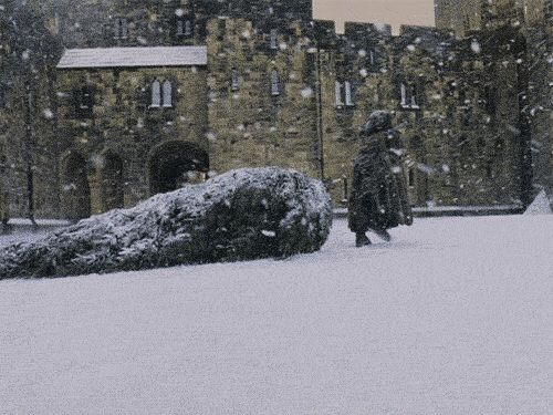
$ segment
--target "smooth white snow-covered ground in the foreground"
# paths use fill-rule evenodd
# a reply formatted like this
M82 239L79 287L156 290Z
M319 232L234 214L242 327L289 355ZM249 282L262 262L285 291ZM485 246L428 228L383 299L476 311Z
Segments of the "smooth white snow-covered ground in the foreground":
M0 281L2 414L552 414L553 216Z

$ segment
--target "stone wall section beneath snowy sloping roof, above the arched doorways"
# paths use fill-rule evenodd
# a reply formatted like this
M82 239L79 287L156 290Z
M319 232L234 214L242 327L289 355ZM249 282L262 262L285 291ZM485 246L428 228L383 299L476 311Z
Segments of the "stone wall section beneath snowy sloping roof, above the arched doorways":
M123 206L127 207L150 195L150 163L164 145L182 142L207 153L206 77L205 68L60 71L60 176L62 181L71 176L67 159L75 154L86 162L92 214L106 210L102 200L106 156L123 163ZM156 80L171 83L170 107L152 107ZM90 94L84 108L83 89Z

